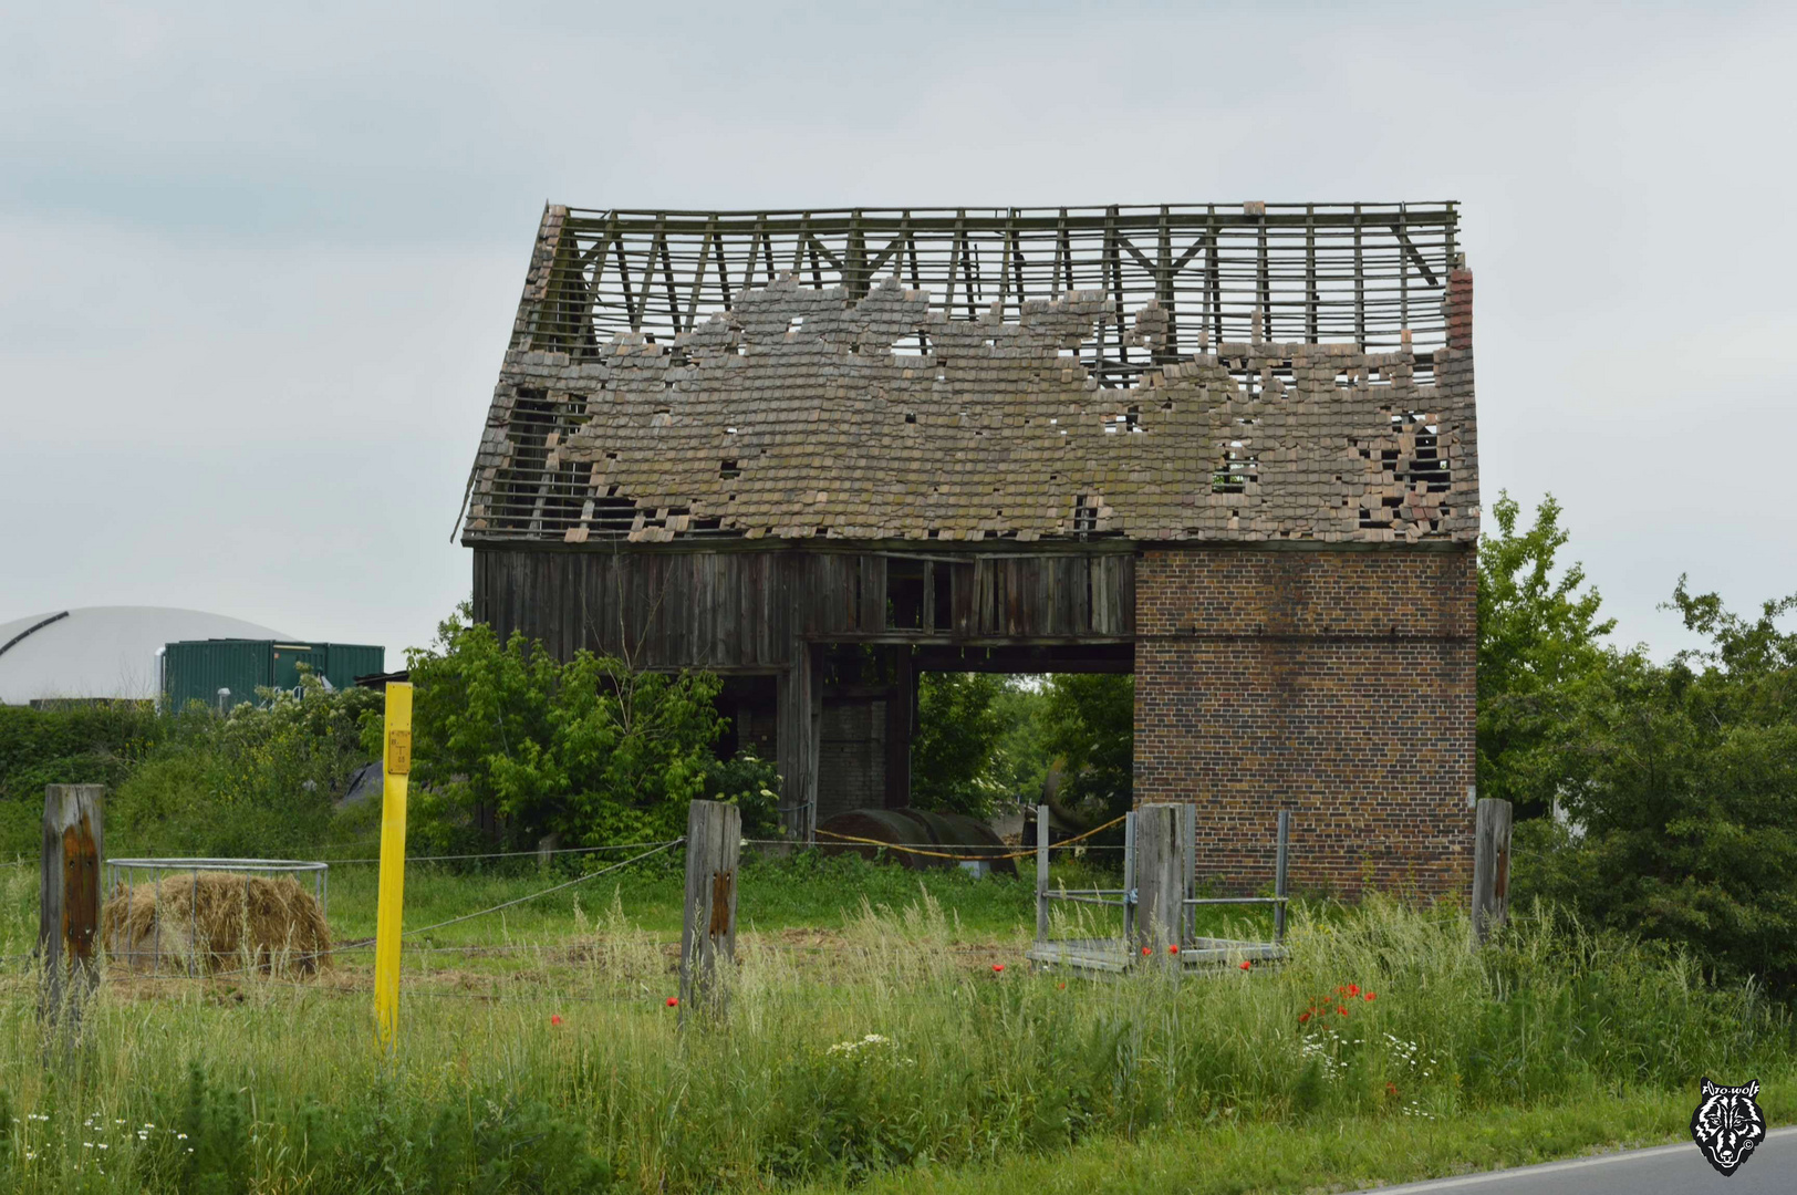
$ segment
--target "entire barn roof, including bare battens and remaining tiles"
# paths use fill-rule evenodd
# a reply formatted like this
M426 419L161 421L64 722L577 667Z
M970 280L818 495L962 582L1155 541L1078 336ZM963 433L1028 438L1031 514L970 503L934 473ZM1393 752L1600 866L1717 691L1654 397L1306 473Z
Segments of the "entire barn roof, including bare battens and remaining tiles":
M550 207L464 541L1468 541L1474 449L1454 203Z

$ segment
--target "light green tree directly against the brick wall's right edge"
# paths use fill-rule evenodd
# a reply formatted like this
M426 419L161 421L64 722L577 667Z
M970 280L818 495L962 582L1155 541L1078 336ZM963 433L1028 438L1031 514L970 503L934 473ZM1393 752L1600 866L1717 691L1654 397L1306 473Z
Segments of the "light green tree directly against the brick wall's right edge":
M1558 566L1567 544L1553 494L1518 532L1520 507L1506 492L1492 507L1497 536L1479 544L1479 796L1497 796L1517 818L1553 809L1576 776L1578 710L1607 665L1598 589L1580 564Z

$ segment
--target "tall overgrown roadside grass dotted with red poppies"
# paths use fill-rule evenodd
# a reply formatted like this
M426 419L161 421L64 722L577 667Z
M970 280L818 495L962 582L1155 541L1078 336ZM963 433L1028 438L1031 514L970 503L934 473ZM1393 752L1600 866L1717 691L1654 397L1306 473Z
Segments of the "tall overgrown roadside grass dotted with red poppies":
M927 1173L960 1190L996 1168L1048 1173L1028 1159L1159 1173L1181 1150L1242 1159L1310 1141L1310 1168L1279 1172L1296 1182L1364 1173L1366 1143L1447 1143L1382 1175L1403 1177L1508 1159L1456 1152L1479 1146L1475 1121L1657 1109L1657 1093L1698 1075L1786 1091L1793 1075L1790 1024L1752 990L1713 990L1677 958L1553 915L1474 956L1463 916L1369 902L1299 913L1281 967L1094 983L1030 974L1019 920L970 947L967 920L956 927L915 879L897 875L893 904L870 907L823 870L834 904L859 911L819 940L744 933L728 1026L685 1033L665 1003L668 934L627 913L629 884L647 906L667 879L633 879L597 915L543 913L536 929L553 925L559 945L516 979L415 970L392 1064L354 956L316 985L110 983L61 1067L43 1066L34 987L13 969L0 1186L731 1191ZM447 909L451 881L433 882ZM787 881L792 907L823 904L803 882ZM956 882L938 891L1015 895ZM31 868L0 872L9 956L34 927L34 884ZM742 891L753 916L748 877ZM455 911L483 898L469 890ZM1583 1116L1572 1146L1590 1136ZM1660 1120L1623 1118L1616 1136ZM942 1177L956 1168L972 1170ZM1211 1190L1278 1188L1244 1175Z

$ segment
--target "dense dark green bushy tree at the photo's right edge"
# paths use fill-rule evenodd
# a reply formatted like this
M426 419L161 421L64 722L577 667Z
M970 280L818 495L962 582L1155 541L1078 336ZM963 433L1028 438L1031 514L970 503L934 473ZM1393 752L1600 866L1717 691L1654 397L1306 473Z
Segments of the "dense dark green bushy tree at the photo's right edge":
M1704 649L1657 665L1607 656L1578 710L1567 830L1518 846L1518 893L1673 942L1725 978L1797 992L1797 634L1693 597L1671 607Z

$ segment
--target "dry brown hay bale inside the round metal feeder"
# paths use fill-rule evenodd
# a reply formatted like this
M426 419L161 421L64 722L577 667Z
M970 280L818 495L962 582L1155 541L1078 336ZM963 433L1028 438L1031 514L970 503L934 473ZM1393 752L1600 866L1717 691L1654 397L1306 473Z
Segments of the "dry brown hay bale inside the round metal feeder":
M291 875L230 872L120 884L101 907L101 936L131 970L261 970L311 976L331 967L331 927Z

